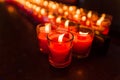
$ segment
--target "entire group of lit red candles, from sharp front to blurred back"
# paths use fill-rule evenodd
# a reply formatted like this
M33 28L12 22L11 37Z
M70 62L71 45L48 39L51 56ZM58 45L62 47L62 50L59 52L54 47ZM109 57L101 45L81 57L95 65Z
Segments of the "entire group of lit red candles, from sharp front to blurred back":
M86 58L95 31L108 34L111 16L46 0L16 0L41 24L36 27L40 51L49 55L53 67L67 67L72 55ZM21 6L22 5L22 6Z

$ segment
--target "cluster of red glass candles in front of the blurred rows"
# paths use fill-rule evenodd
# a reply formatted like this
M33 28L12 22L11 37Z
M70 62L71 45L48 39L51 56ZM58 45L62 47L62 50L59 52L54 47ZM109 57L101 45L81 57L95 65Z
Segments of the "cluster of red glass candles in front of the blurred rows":
M80 25L74 27L58 26L51 23L38 24L36 28L40 51L49 55L49 62L56 68L70 64L72 55L82 59L89 56L94 39L91 28Z

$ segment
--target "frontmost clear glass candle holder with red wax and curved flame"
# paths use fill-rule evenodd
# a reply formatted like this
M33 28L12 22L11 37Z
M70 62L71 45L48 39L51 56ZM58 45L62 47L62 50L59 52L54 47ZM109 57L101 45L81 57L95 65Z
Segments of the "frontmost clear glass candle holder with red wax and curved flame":
M67 31L56 30L47 35L49 62L55 68L64 68L71 63L73 34Z

